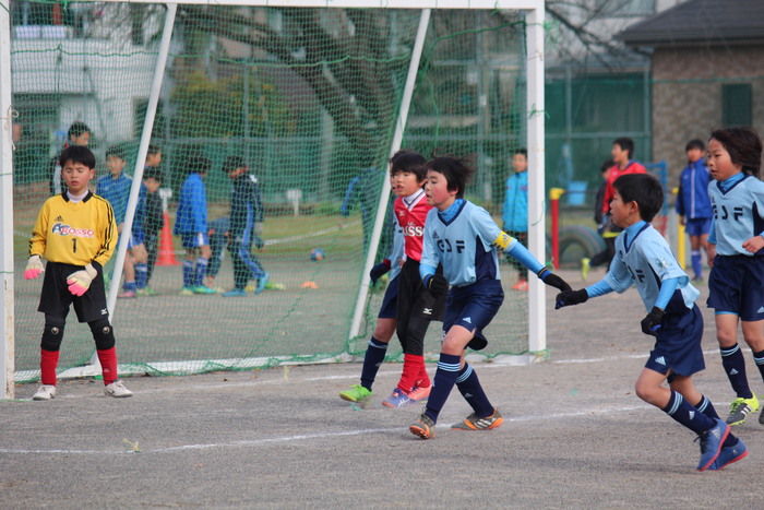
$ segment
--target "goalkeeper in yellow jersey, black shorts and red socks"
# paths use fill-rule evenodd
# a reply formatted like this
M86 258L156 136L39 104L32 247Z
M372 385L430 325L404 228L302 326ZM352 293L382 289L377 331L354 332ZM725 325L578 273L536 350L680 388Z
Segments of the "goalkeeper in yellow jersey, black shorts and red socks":
M67 190L49 198L37 216L26 280L45 272L38 311L45 313L40 343L43 386L33 400L56 396L56 367L70 305L80 322L87 322L103 368L107 396L131 396L117 378L115 335L106 307L103 268L117 244L117 224L108 201L87 185L95 177L95 156L84 146L65 149L59 158ZM41 258L47 259L47 266Z

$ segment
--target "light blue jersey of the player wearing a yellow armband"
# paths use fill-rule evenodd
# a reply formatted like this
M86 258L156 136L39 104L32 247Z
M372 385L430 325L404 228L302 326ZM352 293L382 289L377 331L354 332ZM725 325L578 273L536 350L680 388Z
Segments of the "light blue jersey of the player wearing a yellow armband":
M506 235L485 209L466 200L457 206L461 209L449 221L444 221L437 209L427 214L421 264L437 268L442 263L443 276L457 287L482 280L500 280L493 241Z

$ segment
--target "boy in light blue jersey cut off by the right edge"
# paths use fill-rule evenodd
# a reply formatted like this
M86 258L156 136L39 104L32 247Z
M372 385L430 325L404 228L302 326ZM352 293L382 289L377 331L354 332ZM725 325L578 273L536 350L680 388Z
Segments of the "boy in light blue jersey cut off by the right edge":
M709 308L715 310L721 365L736 399L728 425L742 424L759 408L748 386L745 359L738 345L738 323L764 378L764 182L757 179L762 142L751 128L712 132L708 185L714 216L708 236ZM759 415L764 425L764 415Z

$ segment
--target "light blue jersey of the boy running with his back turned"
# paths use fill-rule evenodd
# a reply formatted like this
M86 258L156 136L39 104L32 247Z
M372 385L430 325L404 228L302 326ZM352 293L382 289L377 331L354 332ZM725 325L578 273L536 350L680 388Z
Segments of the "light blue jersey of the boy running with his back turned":
M623 293L633 283L649 311L656 306L661 283L671 278L679 278L677 292L684 307L692 309L701 293L690 284L664 236L648 223L638 222L616 238L616 257L604 278L613 290Z

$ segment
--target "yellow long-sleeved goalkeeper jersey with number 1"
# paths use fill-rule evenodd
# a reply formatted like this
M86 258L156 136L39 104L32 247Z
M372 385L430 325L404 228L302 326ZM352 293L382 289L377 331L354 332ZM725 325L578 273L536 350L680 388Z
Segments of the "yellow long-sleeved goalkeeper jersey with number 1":
M43 256L50 262L102 266L117 244L117 223L111 205L87 192L72 202L65 192L49 198L39 211L29 239L29 256Z

